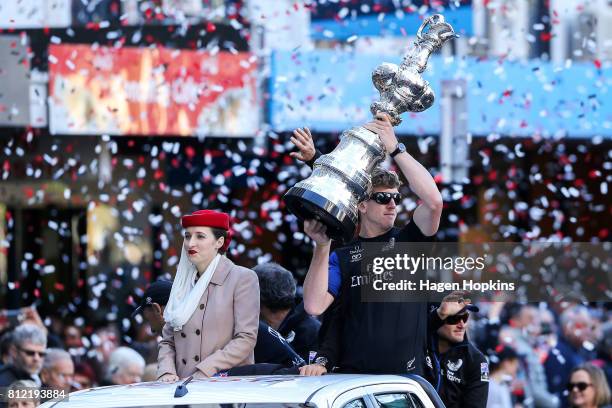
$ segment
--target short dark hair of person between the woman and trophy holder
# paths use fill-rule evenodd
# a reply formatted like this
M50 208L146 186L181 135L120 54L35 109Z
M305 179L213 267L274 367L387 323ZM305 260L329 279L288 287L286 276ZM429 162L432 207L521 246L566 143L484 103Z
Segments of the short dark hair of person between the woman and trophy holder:
M261 304L272 311L291 309L295 304L293 274L279 264L268 262L253 268L259 278Z

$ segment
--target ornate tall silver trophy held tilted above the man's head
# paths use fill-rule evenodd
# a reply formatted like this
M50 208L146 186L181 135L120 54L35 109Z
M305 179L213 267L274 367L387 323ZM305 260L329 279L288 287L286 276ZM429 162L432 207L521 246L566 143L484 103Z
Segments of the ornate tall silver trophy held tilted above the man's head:
M402 63L383 63L372 73L372 82L380 92L380 100L370 106L372 114L387 113L397 126L402 113L429 108L434 93L421 73L430 55L454 37L442 15L423 21ZM317 159L310 177L285 194L287 208L302 220L321 221L331 238L349 241L358 222L357 205L371 193L370 174L384 158L384 145L375 133L361 126L345 130L338 146Z

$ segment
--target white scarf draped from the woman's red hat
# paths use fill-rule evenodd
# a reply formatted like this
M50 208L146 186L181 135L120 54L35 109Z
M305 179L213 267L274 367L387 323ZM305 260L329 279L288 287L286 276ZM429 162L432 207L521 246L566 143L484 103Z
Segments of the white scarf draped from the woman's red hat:
M164 309L164 320L174 331L181 331L183 325L187 323L187 320L195 312L204 291L208 288L210 279L215 273L215 269L217 269L220 259L221 255L217 254L202 276L200 276L198 282L194 284L198 270L187 258L185 246L183 246L181 260L179 261L176 276L172 283L170 298Z

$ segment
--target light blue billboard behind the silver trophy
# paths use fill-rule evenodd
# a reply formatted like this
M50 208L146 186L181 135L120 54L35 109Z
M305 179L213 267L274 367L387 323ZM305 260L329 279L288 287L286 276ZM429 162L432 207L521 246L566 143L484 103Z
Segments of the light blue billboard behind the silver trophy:
M308 126L341 132L371 120L379 94L372 71L399 57L334 50L272 55L269 120L275 131ZM574 63L557 67L542 61L430 58L423 77L436 94L433 106L405 113L399 134L439 134L444 80L467 83L467 125L474 136L612 137L609 97L612 67Z

